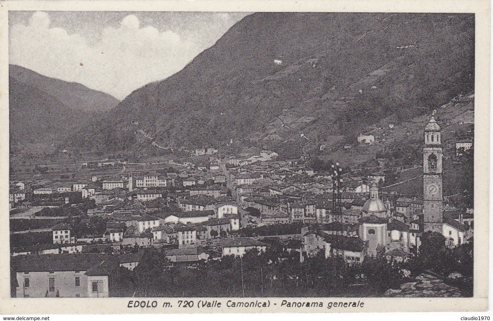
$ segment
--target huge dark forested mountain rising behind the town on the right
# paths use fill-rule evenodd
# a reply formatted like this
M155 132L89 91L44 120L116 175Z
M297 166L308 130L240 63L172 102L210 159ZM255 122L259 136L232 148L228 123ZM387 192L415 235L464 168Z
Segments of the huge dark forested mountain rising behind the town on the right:
M233 139L290 157L352 143L387 117L428 114L473 84L470 14L254 13L102 126L145 131L160 146Z

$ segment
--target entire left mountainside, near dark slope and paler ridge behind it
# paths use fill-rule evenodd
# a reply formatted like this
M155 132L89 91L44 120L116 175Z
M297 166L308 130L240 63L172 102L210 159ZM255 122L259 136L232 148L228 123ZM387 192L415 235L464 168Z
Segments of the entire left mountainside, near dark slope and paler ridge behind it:
M80 84L10 65L10 153L46 155L58 152L58 147L65 149L68 135L94 128L93 119L116 103Z

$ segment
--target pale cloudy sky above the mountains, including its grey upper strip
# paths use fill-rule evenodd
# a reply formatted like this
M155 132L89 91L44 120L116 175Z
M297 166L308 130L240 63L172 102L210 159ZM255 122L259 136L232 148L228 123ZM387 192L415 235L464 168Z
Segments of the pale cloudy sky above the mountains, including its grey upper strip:
M123 99L181 70L247 14L9 11L9 64Z

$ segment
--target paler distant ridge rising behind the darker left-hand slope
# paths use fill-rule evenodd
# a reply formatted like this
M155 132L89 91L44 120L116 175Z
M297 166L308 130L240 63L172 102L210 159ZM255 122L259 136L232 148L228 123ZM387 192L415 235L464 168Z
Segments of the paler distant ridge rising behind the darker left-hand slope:
M8 66L8 75L10 79L15 79L17 82L35 87L56 97L71 109L100 112L106 111L120 102L111 95L87 88L84 85L46 77L14 64Z

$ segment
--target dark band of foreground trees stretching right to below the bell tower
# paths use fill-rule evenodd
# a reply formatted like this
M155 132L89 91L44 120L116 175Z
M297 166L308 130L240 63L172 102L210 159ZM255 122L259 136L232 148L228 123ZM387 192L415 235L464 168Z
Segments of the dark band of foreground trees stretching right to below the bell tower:
M133 271L120 268L120 281L114 283L113 293L149 297L369 296L398 289L431 270L446 280L451 272L460 273L452 285L464 296L471 296L472 242L449 249L445 238L434 232L424 233L422 242L419 255L404 262L388 260L385 248L379 247L375 257L353 264L337 257L325 258L323 252L300 262L298 252L289 254L272 247L266 252L249 250L243 257L170 267L173 264L164 253L148 249Z

